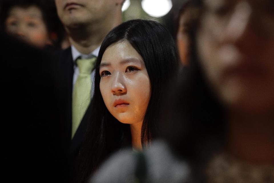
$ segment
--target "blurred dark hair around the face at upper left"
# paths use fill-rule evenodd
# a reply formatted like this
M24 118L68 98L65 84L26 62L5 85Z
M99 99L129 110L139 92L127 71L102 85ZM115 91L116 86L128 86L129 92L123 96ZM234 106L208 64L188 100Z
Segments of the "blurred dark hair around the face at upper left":
M5 21L9 16L9 11L13 7L28 8L36 6L42 12L43 21L47 27L49 38L53 41L53 45L58 48L61 47L61 41L65 37L65 29L57 15L54 0L2 0L0 3L0 28L5 29Z

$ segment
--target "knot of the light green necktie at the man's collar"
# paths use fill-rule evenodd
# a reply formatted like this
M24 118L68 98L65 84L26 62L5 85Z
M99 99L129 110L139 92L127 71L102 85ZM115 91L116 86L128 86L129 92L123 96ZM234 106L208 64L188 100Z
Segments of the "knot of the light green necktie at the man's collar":
M79 68L79 74L89 75L94 68L96 57L90 59L79 58L76 60L76 63Z

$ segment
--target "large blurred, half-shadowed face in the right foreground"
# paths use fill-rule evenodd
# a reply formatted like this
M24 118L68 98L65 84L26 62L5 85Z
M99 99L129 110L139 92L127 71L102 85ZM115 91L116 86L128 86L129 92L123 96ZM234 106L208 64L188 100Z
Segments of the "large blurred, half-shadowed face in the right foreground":
M204 2L197 47L216 93L231 110L273 110L274 1Z

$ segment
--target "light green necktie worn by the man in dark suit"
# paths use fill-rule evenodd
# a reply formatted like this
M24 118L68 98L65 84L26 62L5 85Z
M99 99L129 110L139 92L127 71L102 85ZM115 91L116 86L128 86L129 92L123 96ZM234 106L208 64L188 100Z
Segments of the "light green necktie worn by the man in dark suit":
M94 68L96 57L91 59L77 59L79 75L74 84L72 93L72 134L73 138L90 103L91 71Z

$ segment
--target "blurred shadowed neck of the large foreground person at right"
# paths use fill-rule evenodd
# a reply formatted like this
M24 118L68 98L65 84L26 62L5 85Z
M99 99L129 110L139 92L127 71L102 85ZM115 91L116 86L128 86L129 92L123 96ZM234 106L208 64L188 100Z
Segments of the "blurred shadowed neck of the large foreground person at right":
M252 163L274 163L274 116L232 114L228 150Z

